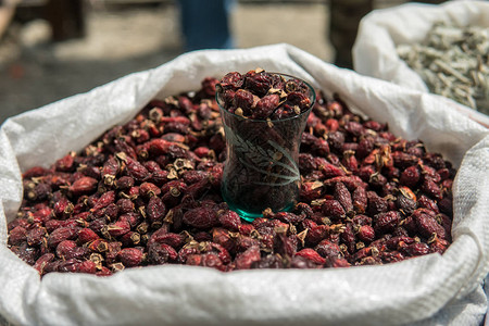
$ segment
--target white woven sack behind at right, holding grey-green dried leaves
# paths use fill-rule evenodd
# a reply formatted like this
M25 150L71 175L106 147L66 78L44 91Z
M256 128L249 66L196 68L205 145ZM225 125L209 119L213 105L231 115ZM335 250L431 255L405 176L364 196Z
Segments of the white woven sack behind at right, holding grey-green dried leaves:
M422 42L432 24L489 27L488 1L447 1L439 5L406 3L374 10L362 18L352 49L353 66L360 74L428 92L428 87L397 53L397 46ZM457 110L489 127L489 116L451 101Z

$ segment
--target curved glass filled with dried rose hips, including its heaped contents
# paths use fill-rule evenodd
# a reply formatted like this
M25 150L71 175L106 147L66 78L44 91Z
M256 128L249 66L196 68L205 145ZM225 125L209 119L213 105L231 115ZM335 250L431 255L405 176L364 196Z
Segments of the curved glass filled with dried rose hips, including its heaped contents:
M217 84L227 153L222 195L242 218L298 202L300 139L315 98L304 80L260 68Z

